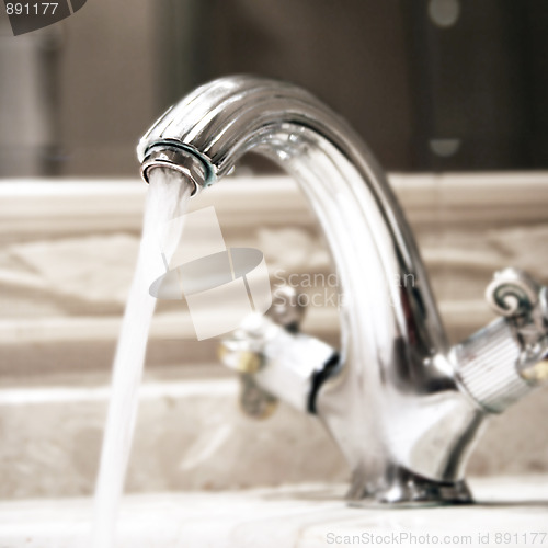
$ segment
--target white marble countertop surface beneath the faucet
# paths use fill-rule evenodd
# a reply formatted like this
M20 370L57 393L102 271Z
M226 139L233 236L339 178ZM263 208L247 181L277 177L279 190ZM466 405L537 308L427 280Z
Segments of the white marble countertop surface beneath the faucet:
M341 484L130 495L116 546L548 545L548 476L478 478L471 487L478 504L413 510L347 507ZM83 547L90 511L89 499L0 503L0 546Z

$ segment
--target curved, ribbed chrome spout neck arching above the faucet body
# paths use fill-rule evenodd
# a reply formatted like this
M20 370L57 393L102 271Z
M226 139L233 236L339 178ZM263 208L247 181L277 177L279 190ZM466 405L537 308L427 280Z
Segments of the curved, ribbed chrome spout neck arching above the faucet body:
M279 81L222 78L169 110L139 142L139 160L159 144L194 151L209 168L202 184L249 150L300 183L340 276L343 355L352 340L359 342L353 358L363 364L390 353L385 341L395 339L422 357L447 350L422 260L383 170L355 132L311 94Z

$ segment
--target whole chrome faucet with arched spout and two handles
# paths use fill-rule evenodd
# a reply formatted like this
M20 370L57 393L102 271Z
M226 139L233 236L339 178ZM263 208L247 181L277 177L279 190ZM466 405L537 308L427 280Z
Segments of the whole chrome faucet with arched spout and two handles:
M341 117L289 83L207 83L150 128L138 157L145 181L170 167L196 193L250 150L300 184L344 298L336 351L299 332L289 290L224 341L248 411L279 398L316 413L353 470L355 505L470 502L465 466L487 419L548 378L546 287L517 270L498 273L487 295L501 318L450 347L383 170ZM396 283L406 276L413 283Z

